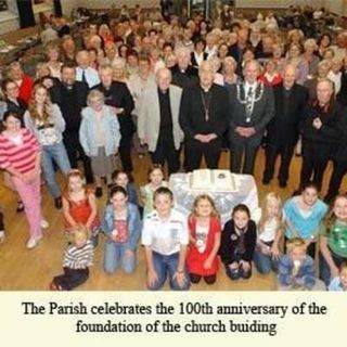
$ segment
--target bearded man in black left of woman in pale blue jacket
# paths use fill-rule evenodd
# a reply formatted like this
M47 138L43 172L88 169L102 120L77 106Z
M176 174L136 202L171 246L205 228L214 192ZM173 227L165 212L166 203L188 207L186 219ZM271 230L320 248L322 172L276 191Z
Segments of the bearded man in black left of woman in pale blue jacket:
M50 89L51 99L62 112L66 128L63 140L73 168L78 167L78 158L83 162L85 175L88 183L93 182L90 158L85 154L79 143L79 126L81 111L87 106L88 85L76 81L75 66L66 63L62 66L62 82Z

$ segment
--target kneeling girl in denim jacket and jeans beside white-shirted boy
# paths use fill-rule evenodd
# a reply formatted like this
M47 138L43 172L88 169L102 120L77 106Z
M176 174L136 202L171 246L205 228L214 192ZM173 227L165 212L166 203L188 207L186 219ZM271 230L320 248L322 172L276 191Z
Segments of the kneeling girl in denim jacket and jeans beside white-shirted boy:
M104 270L113 273L121 266L125 272L131 273L137 264L137 245L142 227L139 209L128 202L127 191L119 185L111 190L110 201L102 222L102 230L107 235Z

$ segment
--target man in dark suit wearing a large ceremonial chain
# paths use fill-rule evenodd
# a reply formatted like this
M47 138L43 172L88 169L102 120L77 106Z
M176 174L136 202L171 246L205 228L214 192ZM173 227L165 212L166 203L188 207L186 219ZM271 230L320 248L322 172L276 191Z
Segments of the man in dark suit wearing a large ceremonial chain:
M259 73L259 63L249 61L243 70L244 81L230 87L230 168L236 174L253 175L257 150L274 115L272 90L257 80Z

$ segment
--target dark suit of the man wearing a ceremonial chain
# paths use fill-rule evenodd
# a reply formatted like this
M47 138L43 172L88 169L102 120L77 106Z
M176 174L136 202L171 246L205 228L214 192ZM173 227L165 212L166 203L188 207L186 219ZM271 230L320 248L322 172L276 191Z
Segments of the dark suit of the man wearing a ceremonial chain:
M253 175L254 162L257 150L260 145L265 129L274 115L273 93L269 87L258 83L256 99L262 90L261 98L255 102L250 120L246 121L245 104L237 100L237 89L241 101L245 100L244 82L230 87L230 169L236 174ZM236 127L255 128L256 133L249 138L241 137L235 132ZM245 154L243 168L241 167L242 156Z

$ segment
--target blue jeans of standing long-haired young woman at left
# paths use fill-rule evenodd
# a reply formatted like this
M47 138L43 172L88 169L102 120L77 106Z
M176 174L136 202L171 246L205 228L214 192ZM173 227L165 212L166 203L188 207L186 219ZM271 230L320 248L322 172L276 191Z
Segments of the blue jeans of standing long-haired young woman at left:
M52 145L43 145L41 162L48 190L56 198L61 196L61 189L55 180L53 162L64 175L72 169L63 141Z

